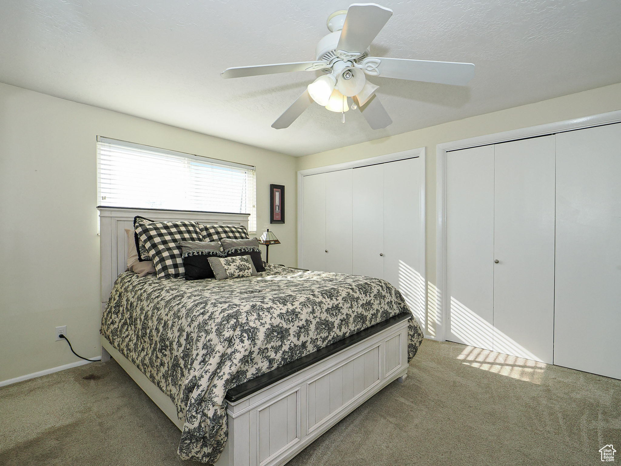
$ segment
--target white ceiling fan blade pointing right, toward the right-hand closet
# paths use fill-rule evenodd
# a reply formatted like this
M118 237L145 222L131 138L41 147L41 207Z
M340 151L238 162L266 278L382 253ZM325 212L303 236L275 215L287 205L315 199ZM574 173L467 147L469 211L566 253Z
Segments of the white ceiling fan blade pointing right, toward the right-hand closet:
M365 62L367 63L366 65ZM379 65L376 64L377 62L379 62ZM473 63L369 57L362 62L362 69L369 75L382 76L384 78L425 81L427 83L451 84L455 86L465 86L468 84L468 81L474 78ZM379 71L379 75L374 69Z

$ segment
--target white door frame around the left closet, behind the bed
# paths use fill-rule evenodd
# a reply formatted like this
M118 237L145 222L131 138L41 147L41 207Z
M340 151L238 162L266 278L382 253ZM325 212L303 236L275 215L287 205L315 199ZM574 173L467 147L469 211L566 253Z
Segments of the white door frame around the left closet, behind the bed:
M388 153L379 155L378 157L363 158L360 160L352 160L351 162L335 163L334 165L325 165L324 167L307 168L306 170L297 171L297 267L304 268L304 255L302 254L302 245L304 244L304 183L302 177L308 175L319 175L319 173L328 173L330 171L347 170L348 168L368 167L369 165L378 165L379 163L397 162L397 160L405 160L406 158L420 158L425 169L422 171L420 180L420 225L421 237L423 242L420 245L420 257L422 257L423 270L421 275L427 283L427 256L426 245L426 223L425 223L425 175L427 173L427 165L425 160L425 147L403 150L401 152ZM427 287L425 287L427 288ZM427 290L425 289L425 309L427 309ZM420 322L425 329L427 335L426 322Z

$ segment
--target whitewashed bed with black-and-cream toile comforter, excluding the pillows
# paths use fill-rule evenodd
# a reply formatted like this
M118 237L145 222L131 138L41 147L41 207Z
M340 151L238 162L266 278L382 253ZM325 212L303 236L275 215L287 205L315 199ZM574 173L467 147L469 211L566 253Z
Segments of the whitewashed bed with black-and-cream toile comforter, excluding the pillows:
M99 208L102 359L181 430L179 455L281 465L396 379L422 332L386 281L267 265L233 280L125 272L134 216L247 226L245 214Z

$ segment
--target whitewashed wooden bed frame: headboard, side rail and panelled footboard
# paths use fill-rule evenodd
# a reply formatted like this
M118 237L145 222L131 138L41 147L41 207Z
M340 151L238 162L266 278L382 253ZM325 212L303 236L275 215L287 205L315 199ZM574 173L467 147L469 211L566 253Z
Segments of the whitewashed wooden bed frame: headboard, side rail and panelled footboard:
M248 227L248 214L98 207L101 300L127 269L127 235L134 216ZM407 326L399 314L229 390L229 440L215 466L283 465L360 404L407 377ZM102 361L114 358L153 402L183 429L170 398L101 337Z

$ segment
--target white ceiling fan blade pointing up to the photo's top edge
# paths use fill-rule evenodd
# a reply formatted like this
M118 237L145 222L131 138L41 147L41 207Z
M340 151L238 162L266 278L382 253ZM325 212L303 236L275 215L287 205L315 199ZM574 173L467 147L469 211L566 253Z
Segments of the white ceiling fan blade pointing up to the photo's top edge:
M347 10L337 50L363 53L392 16L392 10L374 3L354 3Z

